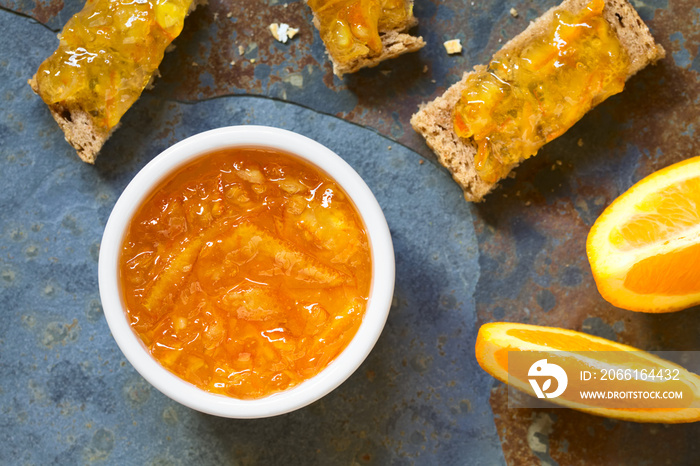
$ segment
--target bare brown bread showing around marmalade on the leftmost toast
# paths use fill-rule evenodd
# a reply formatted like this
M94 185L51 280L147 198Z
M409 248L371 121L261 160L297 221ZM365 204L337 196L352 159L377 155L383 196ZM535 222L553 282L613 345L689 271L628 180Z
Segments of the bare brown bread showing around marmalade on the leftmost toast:
M194 0L187 14L189 15L199 5L204 5L206 3L207 0ZM171 48L172 44L166 49L166 52L170 51ZM157 74L158 71L156 70L151 76L151 80L146 88L151 86ZM36 74L32 76L32 79L28 80L27 83L31 86L32 90L39 95ZM97 154L100 152L100 149L102 149L104 143L119 127L119 124L117 124L108 131L95 124L90 113L86 112L79 102L57 102L48 107L51 116L56 120L61 130L63 130L66 141L73 146L78 153L78 157L80 157L83 162L94 164Z

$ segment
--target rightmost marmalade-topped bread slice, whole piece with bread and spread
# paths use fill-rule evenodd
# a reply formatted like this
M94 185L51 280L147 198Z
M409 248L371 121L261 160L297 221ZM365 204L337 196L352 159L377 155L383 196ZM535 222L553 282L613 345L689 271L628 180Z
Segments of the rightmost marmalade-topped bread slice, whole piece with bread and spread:
M664 55L626 0L565 0L506 43L488 66L476 66L422 105L411 125L465 199L479 202Z

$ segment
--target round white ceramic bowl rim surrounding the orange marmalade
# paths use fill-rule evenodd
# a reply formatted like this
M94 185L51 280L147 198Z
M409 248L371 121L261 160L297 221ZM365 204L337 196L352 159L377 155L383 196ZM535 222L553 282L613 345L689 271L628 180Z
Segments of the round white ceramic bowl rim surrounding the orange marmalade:
M239 400L201 390L161 366L131 329L118 280L118 260L126 229L145 197L173 171L217 149L260 146L297 155L330 175L352 198L369 236L372 284L362 324L345 350L323 371L284 392ZM394 291L394 249L389 227L365 182L330 149L290 131L266 126L232 126L197 134L175 144L146 165L129 183L109 216L100 247L100 297L114 339L134 368L173 400L198 411L231 418L262 418L306 406L343 383L376 343Z

